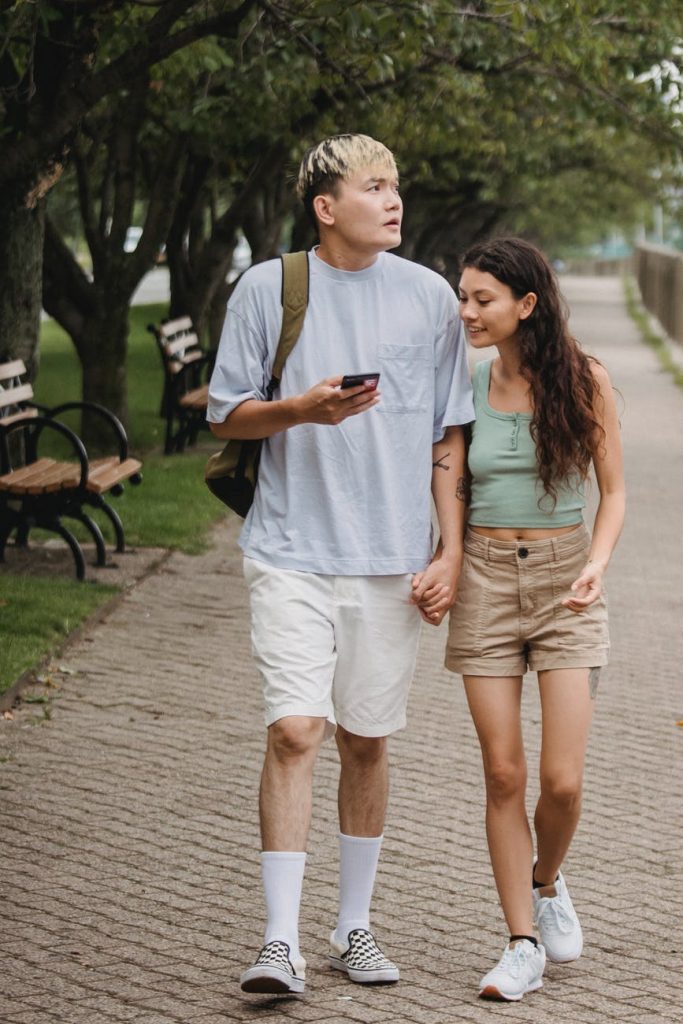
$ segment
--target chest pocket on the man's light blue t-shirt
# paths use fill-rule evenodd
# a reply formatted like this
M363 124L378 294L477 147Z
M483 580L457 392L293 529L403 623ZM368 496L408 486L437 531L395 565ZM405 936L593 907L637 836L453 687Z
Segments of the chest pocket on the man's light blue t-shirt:
M378 345L378 410L383 413L424 413L431 409L434 387L429 345Z

